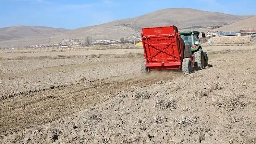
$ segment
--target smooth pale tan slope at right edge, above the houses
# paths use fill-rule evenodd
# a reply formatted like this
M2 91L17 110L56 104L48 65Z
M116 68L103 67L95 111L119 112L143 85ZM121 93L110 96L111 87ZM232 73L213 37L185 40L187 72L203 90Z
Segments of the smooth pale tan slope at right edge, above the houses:
M249 30L256 29L256 16L244 19L239 22L232 23L227 26L220 27L218 31L240 31L240 30Z

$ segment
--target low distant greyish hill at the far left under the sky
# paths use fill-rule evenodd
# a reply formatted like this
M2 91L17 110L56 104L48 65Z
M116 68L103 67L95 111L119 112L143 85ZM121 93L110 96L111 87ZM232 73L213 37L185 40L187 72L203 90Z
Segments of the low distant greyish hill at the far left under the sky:
M42 26L13 26L0 29L0 41L27 38L32 36L60 34L67 32L67 29L42 27Z

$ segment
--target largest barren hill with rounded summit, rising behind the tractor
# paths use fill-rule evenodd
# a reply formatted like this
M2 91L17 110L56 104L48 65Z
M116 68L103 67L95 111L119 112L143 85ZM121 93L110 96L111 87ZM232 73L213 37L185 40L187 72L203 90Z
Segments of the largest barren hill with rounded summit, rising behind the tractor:
M102 25L82 27L67 32L70 35L93 35L95 39L117 39L120 36L140 34L141 27L175 25L182 29L205 29L207 26L228 25L250 16L235 16L189 8L170 8L148 13L139 17L121 19Z

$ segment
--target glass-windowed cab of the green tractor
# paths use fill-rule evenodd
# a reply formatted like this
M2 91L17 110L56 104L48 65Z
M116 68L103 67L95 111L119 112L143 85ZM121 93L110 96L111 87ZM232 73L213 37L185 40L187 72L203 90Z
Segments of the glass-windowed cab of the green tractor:
M180 37L185 42L185 45L189 45L190 47L197 47L200 45L199 31L183 31L179 33ZM202 37L205 38L204 33L202 33Z

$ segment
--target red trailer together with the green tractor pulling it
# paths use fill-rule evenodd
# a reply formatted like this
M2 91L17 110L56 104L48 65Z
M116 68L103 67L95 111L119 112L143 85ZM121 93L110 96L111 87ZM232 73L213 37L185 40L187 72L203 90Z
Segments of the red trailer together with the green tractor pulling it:
M208 66L202 51L199 31L179 32L176 26L143 27L141 32L144 62L141 74L154 70L182 70L184 75ZM202 33L205 38L205 34Z

